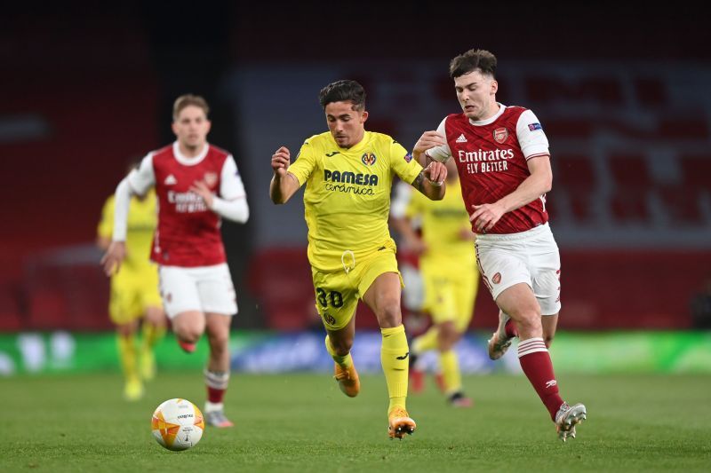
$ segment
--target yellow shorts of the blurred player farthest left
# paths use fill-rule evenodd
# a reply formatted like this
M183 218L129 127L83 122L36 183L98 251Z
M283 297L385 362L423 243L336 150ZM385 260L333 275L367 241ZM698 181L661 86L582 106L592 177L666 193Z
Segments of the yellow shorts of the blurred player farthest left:
M116 325L140 319L148 307L162 307L158 292L158 268L145 271L128 271L121 268L111 278L111 297L108 314Z

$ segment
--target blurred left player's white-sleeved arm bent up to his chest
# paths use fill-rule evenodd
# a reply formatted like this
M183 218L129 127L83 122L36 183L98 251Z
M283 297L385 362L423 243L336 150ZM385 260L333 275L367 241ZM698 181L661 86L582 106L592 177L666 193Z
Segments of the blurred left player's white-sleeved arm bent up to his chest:
M220 171L220 197L213 194L204 181L196 181L190 191L203 198L205 205L220 217L244 224L250 217L247 194L235 159L230 155Z

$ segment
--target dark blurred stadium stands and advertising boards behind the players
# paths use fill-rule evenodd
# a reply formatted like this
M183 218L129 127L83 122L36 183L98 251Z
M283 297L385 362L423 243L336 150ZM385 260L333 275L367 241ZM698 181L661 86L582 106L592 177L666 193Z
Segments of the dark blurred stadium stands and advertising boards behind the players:
M272 370L278 348L293 353L287 369L328 369L303 208L268 200L268 158L325 130L317 92L346 77L368 91L370 129L411 147L457 110L448 61L471 47L497 54L499 101L533 109L551 142L556 367L711 372L711 36L684 5L594 8L7 7L0 376L117 372L93 245L100 208L129 158L172 141L172 100L187 92L210 102L209 138L235 155L252 209L248 225L223 229L240 306L234 367ZM496 313L482 289L460 346L467 372L499 369L483 351ZM377 325L361 309L358 327ZM373 333L357 350L375 357ZM173 344L158 352L161 367L189 366L177 357Z

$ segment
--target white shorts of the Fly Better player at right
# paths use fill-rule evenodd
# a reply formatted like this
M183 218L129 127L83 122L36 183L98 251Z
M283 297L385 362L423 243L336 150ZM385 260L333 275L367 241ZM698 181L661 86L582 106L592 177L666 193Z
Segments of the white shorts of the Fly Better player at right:
M541 315L561 310L561 257L548 224L526 232L476 235L476 261L494 301L524 282L533 289Z

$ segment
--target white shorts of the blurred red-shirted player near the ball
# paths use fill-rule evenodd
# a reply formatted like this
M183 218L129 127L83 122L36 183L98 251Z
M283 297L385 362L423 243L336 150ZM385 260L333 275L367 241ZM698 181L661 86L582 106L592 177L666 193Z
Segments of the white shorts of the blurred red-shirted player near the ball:
M173 318L185 311L237 313L235 286L227 263L183 268L159 266L165 313Z

